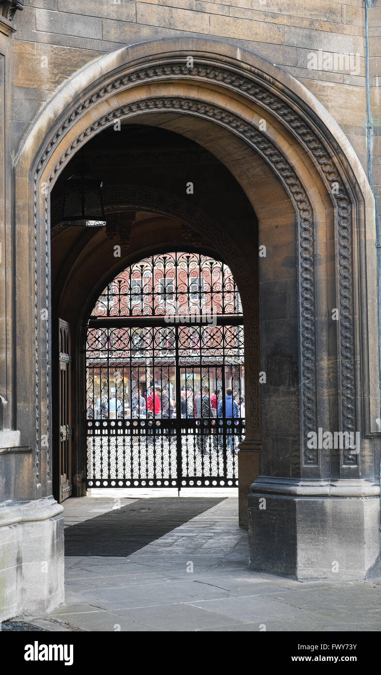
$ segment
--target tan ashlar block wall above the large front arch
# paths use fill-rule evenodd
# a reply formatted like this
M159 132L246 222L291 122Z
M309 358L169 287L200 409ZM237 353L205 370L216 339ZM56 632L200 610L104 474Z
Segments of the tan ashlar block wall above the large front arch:
M366 167L363 0L26 0L12 38L12 151L55 89L98 55L167 36L258 53L328 109ZM381 194L381 5L370 2L373 172ZM381 201L379 204L381 209Z

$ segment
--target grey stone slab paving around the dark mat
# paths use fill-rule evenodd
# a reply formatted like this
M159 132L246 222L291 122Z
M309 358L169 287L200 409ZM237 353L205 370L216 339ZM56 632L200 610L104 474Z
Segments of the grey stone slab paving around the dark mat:
M106 497L80 502L94 515L109 510ZM67 557L65 606L33 623L53 631L381 630L381 580L299 583L247 572L237 508L236 498L224 499L127 557ZM65 510L73 521L73 500Z

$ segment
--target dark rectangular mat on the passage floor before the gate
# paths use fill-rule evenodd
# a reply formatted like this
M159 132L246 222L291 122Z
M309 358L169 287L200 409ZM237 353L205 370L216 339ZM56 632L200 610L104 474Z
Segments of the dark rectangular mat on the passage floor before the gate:
M86 498L86 497L84 497ZM65 556L125 557L216 506L213 497L157 497L65 528Z

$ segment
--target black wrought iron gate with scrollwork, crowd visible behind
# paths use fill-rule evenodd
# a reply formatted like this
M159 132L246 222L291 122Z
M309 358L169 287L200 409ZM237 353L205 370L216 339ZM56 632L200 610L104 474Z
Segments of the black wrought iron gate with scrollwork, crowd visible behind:
M88 487L236 487L243 317L229 268L156 255L114 279L88 322Z

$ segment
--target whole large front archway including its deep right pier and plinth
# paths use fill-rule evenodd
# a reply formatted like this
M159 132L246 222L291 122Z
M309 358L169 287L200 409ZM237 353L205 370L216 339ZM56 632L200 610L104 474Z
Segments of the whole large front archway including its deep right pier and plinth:
M14 427L33 448L32 462L20 455L28 498L51 494L49 445L41 444L51 436L51 326L49 316L41 320L51 302L49 192L78 149L115 119L164 126L208 148L258 217L266 257L235 263L241 294L257 266L260 280L259 304L246 298L245 333L258 426L239 453L248 487L262 447L248 498L250 567L363 578L379 552L374 200L349 142L310 92L214 41L141 43L94 61L57 91L16 157L16 297L26 285L32 296L16 304L14 358L24 367L16 370ZM309 448L308 433L319 428L359 432L358 452Z

